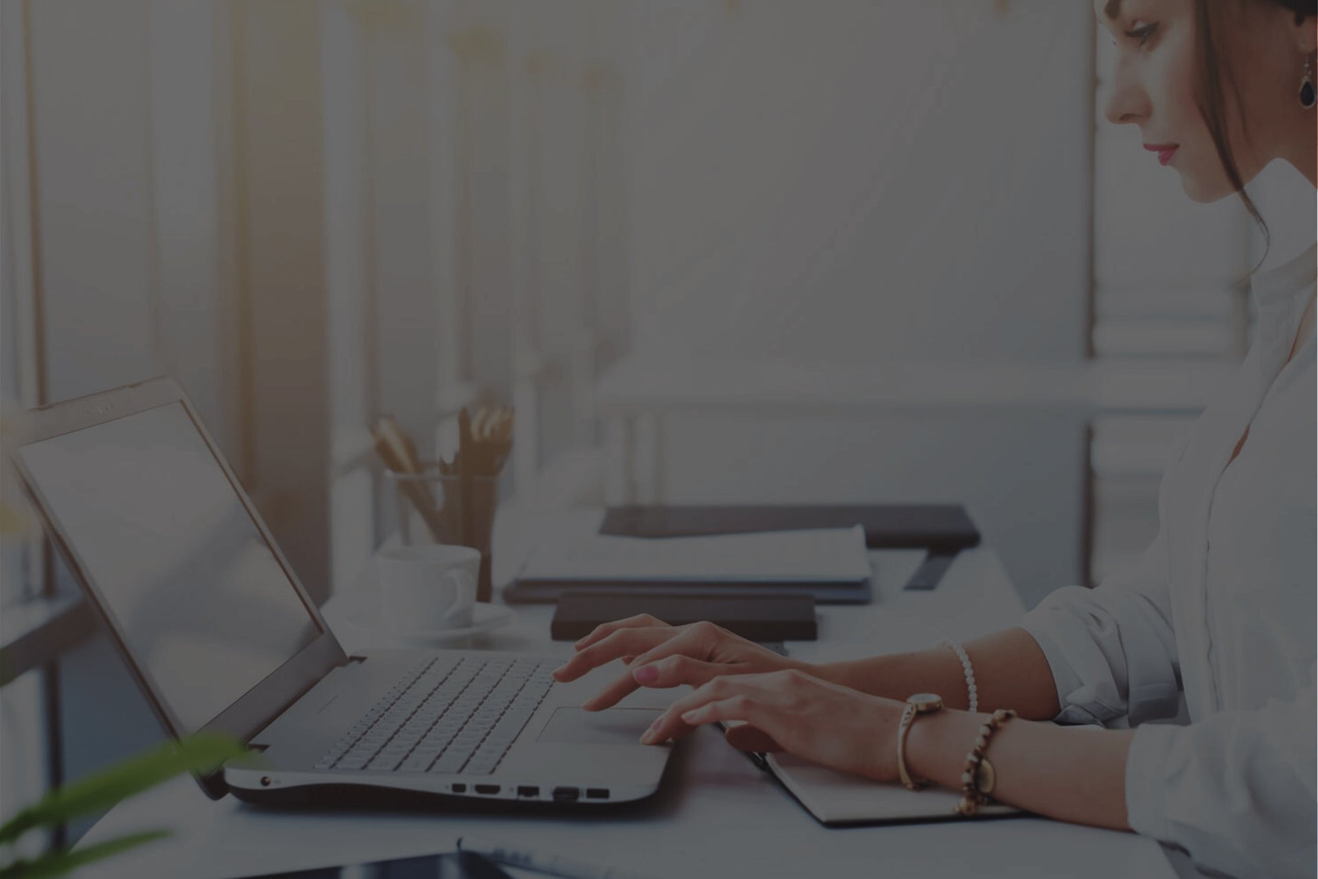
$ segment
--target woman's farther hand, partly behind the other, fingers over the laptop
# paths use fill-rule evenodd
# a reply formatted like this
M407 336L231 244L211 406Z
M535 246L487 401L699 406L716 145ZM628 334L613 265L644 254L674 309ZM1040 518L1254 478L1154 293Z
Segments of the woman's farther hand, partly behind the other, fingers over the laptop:
M576 680L614 659L630 666L626 675L581 705L590 712L616 705L639 687L699 687L718 676L808 668L712 622L670 626L650 614L597 626L576 643L576 651L555 669L555 680Z

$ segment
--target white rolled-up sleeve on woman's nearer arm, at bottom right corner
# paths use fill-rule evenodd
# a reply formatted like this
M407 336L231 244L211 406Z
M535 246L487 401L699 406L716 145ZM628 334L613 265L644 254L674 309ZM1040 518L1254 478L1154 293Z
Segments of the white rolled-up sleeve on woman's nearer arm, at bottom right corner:
M1318 787L1314 689L1294 702L1135 731L1131 829L1234 876L1313 876Z

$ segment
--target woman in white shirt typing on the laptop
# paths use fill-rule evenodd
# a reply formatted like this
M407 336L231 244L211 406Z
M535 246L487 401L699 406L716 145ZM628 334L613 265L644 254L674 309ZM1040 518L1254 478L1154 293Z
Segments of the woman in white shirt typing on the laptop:
M1097 0L1119 46L1108 119L1139 125L1197 202L1242 192L1256 215L1242 190L1273 159L1318 184L1315 5ZM966 644L829 666L639 617L584 638L556 677L627 659L590 709L695 687L647 742L743 721L728 731L738 747L946 785L966 813L991 793L1181 845L1215 870L1311 876L1314 260L1253 278L1249 356L1164 476L1157 539L1099 588L1061 589ZM1176 717L1181 695L1188 725L1145 723ZM1050 720L1122 729L1037 722Z

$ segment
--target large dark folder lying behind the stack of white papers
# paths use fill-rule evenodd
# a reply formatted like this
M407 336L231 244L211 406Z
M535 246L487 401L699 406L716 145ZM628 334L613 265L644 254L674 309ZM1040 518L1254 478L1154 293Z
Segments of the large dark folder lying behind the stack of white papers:
M600 534L693 538L708 534L865 528L871 550L956 552L979 544L979 530L960 503L612 506Z

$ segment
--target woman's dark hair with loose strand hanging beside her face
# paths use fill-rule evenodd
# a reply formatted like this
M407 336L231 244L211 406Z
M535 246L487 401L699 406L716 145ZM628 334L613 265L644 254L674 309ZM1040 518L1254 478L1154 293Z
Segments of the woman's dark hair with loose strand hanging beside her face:
M1318 14L1318 0L1252 0L1253 3L1275 3L1296 13L1296 24L1306 17ZM1238 0L1239 3L1239 0ZM1235 153L1231 150L1231 138L1227 129L1226 94L1227 88L1236 98L1236 108L1240 109L1240 92L1231 71L1231 59L1222 45L1222 34L1226 22L1222 20L1223 0L1194 0L1194 26L1198 45L1197 76L1198 88L1195 98L1199 104L1199 115L1209 128L1213 144L1218 149L1218 158L1226 170L1227 179L1240 200L1244 202L1246 211L1253 221L1263 229L1264 241L1268 240L1268 224L1264 223L1253 199L1244 191L1244 179L1240 177L1240 167L1236 165Z

